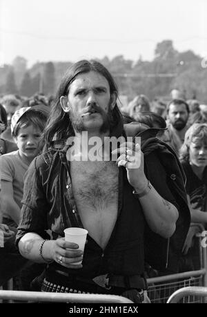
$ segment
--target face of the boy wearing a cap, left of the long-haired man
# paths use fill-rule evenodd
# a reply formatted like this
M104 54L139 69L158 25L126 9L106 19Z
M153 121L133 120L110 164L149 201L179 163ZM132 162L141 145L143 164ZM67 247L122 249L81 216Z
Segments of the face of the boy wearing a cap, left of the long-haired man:
M28 161L32 161L39 153L39 138L42 131L33 126L27 126L26 128L20 128L15 142L19 148L19 154L21 157L25 157Z

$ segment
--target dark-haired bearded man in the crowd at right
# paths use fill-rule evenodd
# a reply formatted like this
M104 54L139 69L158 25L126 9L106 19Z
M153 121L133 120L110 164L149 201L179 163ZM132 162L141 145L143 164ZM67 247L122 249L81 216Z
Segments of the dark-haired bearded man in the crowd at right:
M169 144L179 155L179 149L184 143L188 130L189 106L184 99L173 99L166 108L167 128L162 140Z

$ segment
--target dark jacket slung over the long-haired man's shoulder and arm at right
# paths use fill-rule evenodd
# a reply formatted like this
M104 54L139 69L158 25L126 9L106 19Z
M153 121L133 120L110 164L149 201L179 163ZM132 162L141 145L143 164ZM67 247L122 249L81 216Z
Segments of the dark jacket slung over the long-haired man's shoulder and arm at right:
M126 126L130 126L130 129ZM153 269L159 271L168 269L168 271L175 273L179 270L179 258L190 227L190 210L186 198L184 171L175 151L156 137L160 129L142 128L139 123L126 124L124 127L127 136L141 137L141 150L144 153L145 162L147 162L146 175L150 181L154 179L155 188L159 194L165 197L166 190L170 190L175 198L179 211L175 233L169 239L162 238L146 224L144 246L145 260ZM156 160L159 160L164 170L164 175L158 175L158 177L155 177ZM167 183L168 189L163 186L162 177Z

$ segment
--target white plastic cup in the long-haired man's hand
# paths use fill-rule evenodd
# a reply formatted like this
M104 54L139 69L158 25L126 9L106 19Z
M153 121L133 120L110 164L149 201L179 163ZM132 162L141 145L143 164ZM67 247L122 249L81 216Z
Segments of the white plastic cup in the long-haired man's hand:
M76 227L70 227L66 228L64 230L65 233L65 240L68 242L73 242L79 245L79 249L84 252L85 244L86 244L86 237L88 234L88 231L83 228L76 228ZM72 265L79 265L82 263L82 260L80 262L72 263Z

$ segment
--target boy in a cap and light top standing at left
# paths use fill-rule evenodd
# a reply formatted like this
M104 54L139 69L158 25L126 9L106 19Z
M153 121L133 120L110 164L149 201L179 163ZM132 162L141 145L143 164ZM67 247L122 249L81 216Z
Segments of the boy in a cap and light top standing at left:
M34 157L39 154L39 140L46 124L49 109L43 106L33 106L17 110L12 116L11 131L18 150L0 157L1 197L4 205L3 224L8 225L10 230L15 233L6 243L4 252L7 251L7 256L10 257L11 261L15 254L17 261L21 262L21 266L27 261L19 254L14 245L14 240L21 214L23 177ZM11 266L12 263L1 261L1 277L8 276L7 273ZM38 273L39 271L34 276ZM3 279L0 282L3 283L6 280Z

